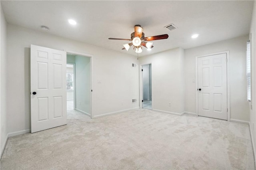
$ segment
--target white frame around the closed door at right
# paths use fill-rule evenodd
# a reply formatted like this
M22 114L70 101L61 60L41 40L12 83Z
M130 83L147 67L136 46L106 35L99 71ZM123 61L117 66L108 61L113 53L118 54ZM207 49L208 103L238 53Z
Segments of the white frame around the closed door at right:
M210 53L210 54L205 54L205 55L199 55L196 56L196 115L198 116L198 58L200 57L207 57L210 55L218 55L218 54L223 54L226 53L227 56L227 117L228 120L230 121L230 57L229 57L229 50L228 51L221 51L221 52L216 52L216 53Z

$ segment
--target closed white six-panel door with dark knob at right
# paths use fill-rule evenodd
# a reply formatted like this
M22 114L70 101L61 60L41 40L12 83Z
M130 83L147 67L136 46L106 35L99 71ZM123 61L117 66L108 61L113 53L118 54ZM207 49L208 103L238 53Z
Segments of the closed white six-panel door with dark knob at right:
M198 115L227 120L226 53L198 58Z

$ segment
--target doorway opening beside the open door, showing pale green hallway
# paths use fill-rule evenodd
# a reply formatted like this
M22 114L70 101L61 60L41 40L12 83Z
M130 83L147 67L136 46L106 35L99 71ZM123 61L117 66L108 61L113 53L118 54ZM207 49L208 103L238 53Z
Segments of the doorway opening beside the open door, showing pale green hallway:
M92 118L92 57L67 53L67 111Z

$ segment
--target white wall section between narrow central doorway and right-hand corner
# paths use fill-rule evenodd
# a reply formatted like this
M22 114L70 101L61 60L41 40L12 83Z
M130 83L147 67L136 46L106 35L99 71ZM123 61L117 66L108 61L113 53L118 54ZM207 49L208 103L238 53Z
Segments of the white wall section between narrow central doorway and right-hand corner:
M178 114L184 112L183 49L170 49L139 60L140 64L152 63L153 109Z

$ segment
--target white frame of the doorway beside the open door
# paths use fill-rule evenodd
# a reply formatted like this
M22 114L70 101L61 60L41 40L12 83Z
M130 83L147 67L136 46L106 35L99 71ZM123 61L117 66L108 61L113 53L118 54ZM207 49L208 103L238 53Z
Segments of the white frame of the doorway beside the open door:
M70 53L70 54L75 54L75 55L80 55L80 56L83 56L83 57L90 57L90 71L91 71L91 75L90 75L90 88L91 88L91 92L93 92L93 89L94 89L94 63L93 63L93 55L90 55L90 54L86 54L86 53L80 53L80 52L76 52L76 51L70 51L70 50L66 50L66 53ZM75 97L75 95L74 95ZM91 93L90 95L90 111L91 111L91 114L90 114L90 118L93 119L94 118L94 94ZM75 99L74 99L75 101Z

